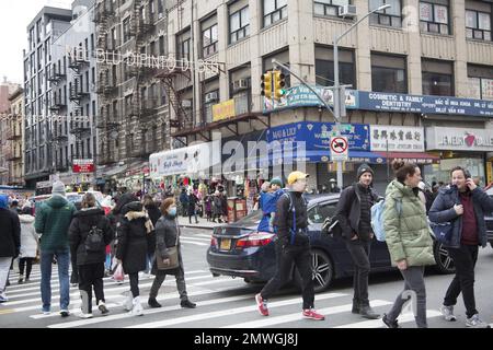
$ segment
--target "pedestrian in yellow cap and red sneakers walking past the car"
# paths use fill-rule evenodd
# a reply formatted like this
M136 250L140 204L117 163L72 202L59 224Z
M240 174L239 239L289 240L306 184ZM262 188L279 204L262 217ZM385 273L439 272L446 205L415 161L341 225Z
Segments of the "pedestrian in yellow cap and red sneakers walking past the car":
M290 190L276 205L274 226L277 231L276 244L279 246L276 275L262 291L255 295L259 312L268 316L267 300L290 280L291 266L295 264L302 280L302 298L305 318L323 320L325 317L313 310L314 291L311 270L310 241L307 234L307 202L302 196L307 189L308 174L293 172L288 176Z

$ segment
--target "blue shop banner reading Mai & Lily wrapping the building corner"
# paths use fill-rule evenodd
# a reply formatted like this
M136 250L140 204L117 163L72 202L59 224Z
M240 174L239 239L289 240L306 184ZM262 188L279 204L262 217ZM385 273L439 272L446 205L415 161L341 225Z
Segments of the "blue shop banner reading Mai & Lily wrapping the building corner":
M306 150L328 150L330 153L331 138L336 132L333 122L300 121L283 125L267 130L267 142L280 143L305 141ZM341 136L347 137L349 151L369 151L369 125L343 124Z

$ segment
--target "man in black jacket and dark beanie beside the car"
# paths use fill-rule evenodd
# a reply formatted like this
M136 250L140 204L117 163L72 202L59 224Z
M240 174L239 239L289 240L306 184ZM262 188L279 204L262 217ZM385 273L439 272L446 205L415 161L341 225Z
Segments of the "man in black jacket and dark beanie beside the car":
M339 220L347 250L354 262L353 314L375 319L375 313L368 300L368 275L370 270L369 253L374 232L371 229L371 206L378 200L371 188L374 171L362 164L357 171L358 182L341 194L335 218Z

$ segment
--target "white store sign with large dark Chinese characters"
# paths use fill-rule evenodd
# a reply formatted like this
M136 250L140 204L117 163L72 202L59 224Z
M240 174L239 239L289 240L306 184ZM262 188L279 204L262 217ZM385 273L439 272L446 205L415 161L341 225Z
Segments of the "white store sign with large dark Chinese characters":
M371 151L424 152L424 128L370 125Z

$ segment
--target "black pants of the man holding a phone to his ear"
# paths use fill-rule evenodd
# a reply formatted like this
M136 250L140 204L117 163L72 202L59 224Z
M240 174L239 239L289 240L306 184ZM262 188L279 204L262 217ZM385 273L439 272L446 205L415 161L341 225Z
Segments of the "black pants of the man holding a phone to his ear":
M456 276L445 294L444 305L452 306L462 292L466 315L468 318L478 314L474 299L474 267L478 260L477 245L460 245L460 248L448 248L448 254L456 266Z

